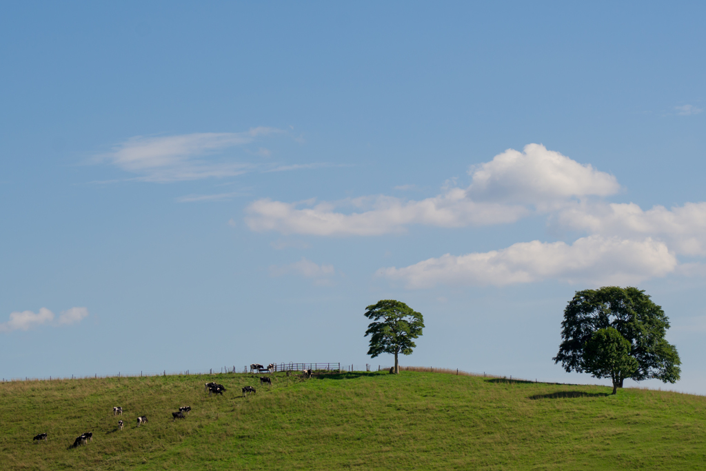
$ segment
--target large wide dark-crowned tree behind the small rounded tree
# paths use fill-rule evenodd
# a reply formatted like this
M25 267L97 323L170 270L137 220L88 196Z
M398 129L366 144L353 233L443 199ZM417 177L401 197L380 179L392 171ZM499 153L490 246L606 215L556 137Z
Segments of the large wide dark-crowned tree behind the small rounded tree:
M597 330L609 327L630 343L630 357L638 362L635 371L618 374L618 388L623 387L625 378L678 381L681 360L676 347L664 339L669 318L644 290L635 287L607 286L576 292L564 309L562 342L554 362L561 362L567 372L589 371L585 345Z

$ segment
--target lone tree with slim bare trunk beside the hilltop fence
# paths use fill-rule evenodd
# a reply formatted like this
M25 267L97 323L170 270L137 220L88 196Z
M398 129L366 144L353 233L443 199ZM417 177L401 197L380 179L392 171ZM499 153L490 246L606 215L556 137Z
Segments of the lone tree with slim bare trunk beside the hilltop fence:
M412 348L417 347L412 339L421 335L424 317L395 299L382 299L365 309L365 316L373 320L364 335L371 335L368 354L373 358L381 353L394 354L395 374L400 374L397 355L411 354Z

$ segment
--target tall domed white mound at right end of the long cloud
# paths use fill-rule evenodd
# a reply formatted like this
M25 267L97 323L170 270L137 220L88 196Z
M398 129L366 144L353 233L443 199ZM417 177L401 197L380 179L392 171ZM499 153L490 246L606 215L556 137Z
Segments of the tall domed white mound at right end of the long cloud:
M616 178L582 165L541 144L523 152L508 149L469 170L468 195L476 200L545 205L572 197L609 196L620 191Z

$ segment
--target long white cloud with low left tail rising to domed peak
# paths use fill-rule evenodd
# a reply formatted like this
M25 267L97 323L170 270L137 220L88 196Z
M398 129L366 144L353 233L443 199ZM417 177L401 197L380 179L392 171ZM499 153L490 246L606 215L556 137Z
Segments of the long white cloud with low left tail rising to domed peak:
M606 196L620 189L612 175L539 144L525 146L522 153L506 150L473 169L471 175L467 189L457 188L451 181L443 193L421 201L366 196L333 203L285 203L264 198L246 208L246 224L254 231L320 236L373 236L404 232L415 224L507 224L534 210L563 205L567 198ZM342 212L345 207L352 212Z

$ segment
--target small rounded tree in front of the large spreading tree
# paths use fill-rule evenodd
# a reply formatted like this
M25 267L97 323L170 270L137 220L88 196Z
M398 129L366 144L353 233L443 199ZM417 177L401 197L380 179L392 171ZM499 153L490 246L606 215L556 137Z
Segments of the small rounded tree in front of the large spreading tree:
M630 357L630 342L612 327L596 330L585 343L583 364L594 378L611 378L613 394L621 378L632 376L638 369L638 360Z

